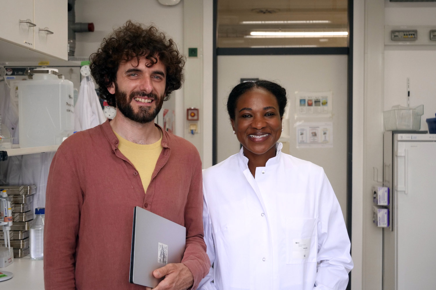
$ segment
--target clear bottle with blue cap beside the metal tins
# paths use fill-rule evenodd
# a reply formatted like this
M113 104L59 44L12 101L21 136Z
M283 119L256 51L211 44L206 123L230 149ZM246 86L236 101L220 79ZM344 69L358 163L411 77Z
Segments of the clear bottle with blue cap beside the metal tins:
M36 218L30 226L30 257L41 260L44 257L44 207L35 209Z

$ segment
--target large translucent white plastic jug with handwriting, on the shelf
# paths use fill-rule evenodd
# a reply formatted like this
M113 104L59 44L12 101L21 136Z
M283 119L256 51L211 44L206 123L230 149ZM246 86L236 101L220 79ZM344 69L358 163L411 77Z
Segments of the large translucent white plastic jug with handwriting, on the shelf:
M52 68L27 74L18 83L20 147L59 145L74 130L73 83Z

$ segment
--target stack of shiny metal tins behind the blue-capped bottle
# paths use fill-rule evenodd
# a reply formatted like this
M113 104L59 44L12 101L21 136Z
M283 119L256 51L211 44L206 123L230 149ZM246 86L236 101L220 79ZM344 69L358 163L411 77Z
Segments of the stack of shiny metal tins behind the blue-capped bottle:
M33 220L33 195L36 185L0 185L12 197L13 223L10 227L10 245L14 248L14 258L29 254L29 230ZM0 246L3 243L3 231L0 231Z

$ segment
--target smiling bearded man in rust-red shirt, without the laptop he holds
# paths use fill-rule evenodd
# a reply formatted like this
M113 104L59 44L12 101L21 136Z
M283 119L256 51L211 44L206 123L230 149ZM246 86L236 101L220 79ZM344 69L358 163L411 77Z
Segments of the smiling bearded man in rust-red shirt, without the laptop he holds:
M186 227L181 263L153 271L164 277L154 289L196 289L208 273L200 156L191 143L154 123L164 100L182 85L184 62L163 32L131 21L91 55L100 96L117 113L68 137L53 158L45 289L146 289L129 283L136 206Z

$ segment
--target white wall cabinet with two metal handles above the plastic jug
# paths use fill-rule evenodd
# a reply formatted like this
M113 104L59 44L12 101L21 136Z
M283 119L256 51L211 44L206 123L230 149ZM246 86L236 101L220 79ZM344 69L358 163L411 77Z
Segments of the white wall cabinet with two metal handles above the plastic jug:
M49 57L68 60L67 0L2 0L0 9L0 61L28 60L21 47ZM12 51L11 51L12 50Z

